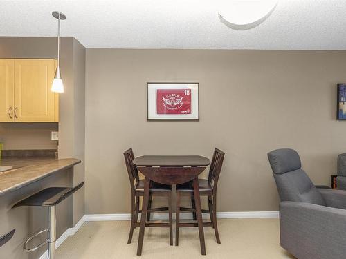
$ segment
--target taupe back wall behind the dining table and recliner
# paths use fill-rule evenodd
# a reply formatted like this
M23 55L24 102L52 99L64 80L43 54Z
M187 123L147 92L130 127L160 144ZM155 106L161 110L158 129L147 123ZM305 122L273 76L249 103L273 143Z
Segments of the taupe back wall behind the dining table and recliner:
M86 50L86 213L129 213L122 152L226 152L219 211L277 211L266 153L295 148L329 184L345 153L336 84L345 51ZM200 83L199 122L147 122L146 83Z

